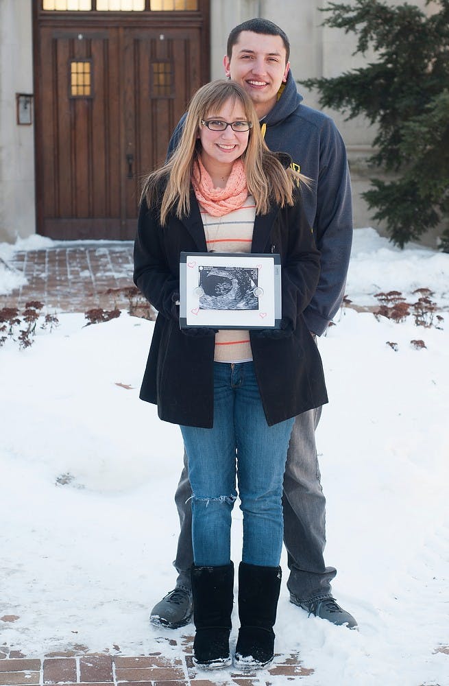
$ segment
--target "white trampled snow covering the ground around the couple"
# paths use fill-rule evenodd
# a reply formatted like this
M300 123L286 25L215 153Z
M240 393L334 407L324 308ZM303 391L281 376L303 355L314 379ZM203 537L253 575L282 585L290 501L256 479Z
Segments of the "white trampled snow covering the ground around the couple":
M6 271L0 262L0 293ZM415 303L424 287L443 318L433 326L345 307L319 340L326 561L360 630L289 604L282 559L276 650L300 652L310 686L449 684L449 255L356 231L352 303L389 290ZM0 648L155 652L148 613L175 580L182 440L138 400L153 324L59 319L30 348L0 348ZM233 518L237 564L238 508Z

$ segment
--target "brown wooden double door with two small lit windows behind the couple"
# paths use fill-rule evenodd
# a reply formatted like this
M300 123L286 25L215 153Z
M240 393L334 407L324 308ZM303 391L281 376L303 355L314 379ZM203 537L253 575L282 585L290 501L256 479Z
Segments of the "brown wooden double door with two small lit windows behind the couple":
M142 178L165 160L189 98L208 80L202 30L38 27L38 233L134 238Z

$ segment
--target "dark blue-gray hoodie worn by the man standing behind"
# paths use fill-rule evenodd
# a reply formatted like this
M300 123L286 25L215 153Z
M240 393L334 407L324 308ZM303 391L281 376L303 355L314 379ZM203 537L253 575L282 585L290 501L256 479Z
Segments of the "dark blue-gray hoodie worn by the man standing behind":
M289 71L287 83L265 123L265 142L274 152L287 152L296 169L311 179L302 185L302 199L315 243L321 253L319 283L304 311L310 331L321 335L337 314L345 292L352 244L351 183L343 139L324 113L302 104ZM168 155L179 140L184 117L169 143Z

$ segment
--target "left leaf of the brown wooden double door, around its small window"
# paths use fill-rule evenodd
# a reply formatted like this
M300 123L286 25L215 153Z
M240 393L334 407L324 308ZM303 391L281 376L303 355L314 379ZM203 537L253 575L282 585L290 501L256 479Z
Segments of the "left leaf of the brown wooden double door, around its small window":
M40 233L62 239L90 234L92 238L121 238L118 31L99 33L80 27L75 33L48 28L43 29L41 46ZM72 97L71 62L87 60L91 93ZM90 220L91 229L79 220Z

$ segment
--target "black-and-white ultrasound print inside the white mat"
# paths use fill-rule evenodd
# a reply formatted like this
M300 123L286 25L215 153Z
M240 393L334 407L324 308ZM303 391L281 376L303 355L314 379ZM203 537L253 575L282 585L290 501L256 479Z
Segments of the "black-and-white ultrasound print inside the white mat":
M199 289L199 309L258 309L256 268L199 267Z

